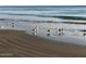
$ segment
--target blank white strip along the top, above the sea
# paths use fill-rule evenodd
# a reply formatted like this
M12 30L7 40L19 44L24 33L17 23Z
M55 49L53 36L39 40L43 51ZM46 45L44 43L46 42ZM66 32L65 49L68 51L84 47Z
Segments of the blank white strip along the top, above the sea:
M85 0L0 0L0 5L86 5Z

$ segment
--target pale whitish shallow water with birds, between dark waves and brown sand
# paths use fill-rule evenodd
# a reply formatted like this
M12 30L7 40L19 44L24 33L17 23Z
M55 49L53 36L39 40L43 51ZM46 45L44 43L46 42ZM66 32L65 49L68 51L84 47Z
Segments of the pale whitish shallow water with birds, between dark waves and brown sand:
M14 22L13 22L14 23ZM1 29L19 29L26 30L27 34L32 34L39 37L44 37L51 40L64 41L67 43L74 44L86 44L86 37L83 36L83 31L81 29L85 29L84 25L76 24L54 24L54 23L29 23L29 22L17 22L14 23L14 27L12 27L12 22L0 24ZM33 30L37 27L37 33ZM63 28L63 34L59 35L58 29ZM50 29L50 35L48 35L48 29Z

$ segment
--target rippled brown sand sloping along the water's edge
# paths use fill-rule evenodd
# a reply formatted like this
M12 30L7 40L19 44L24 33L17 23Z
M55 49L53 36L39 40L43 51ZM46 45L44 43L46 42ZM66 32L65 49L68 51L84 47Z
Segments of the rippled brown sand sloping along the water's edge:
M22 30L0 30L0 56L86 56L86 47L50 41Z

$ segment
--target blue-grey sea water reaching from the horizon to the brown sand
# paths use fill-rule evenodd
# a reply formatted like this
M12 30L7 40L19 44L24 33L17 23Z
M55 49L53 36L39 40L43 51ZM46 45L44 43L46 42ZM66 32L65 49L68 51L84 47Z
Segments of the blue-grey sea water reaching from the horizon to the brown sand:
M35 27L37 30L33 30ZM86 46L86 7L0 7L0 28L22 29L47 39Z

